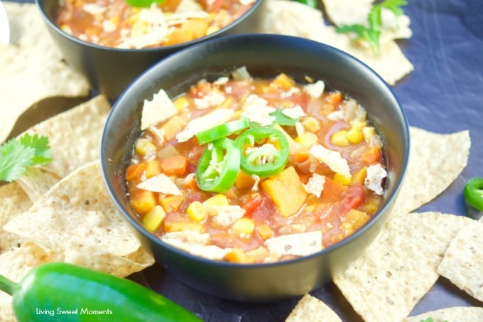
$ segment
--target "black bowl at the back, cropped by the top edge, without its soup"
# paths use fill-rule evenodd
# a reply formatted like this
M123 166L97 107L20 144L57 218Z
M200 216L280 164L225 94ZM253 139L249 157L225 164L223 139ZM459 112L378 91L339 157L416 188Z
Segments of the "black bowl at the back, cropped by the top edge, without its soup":
M59 1L36 0L50 34L64 54L67 63L85 75L94 89L110 99L116 99L136 76L176 50L218 36L256 32L264 15L265 2L265 0L256 0L249 11L229 26L194 41L159 48L118 49L81 41L58 28L54 19Z

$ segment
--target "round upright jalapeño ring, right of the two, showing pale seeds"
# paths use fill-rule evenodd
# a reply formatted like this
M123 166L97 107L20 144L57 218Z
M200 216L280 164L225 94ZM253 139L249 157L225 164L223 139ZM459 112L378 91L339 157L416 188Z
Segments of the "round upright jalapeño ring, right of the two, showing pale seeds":
M241 151L240 167L260 178L280 173L288 161L288 140L273 127L256 127L240 134L235 141Z

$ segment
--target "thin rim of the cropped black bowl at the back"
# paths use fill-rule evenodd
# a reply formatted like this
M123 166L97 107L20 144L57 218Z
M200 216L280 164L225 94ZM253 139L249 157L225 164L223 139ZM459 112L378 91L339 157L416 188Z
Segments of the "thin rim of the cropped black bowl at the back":
M114 51L114 52L119 52L119 53L152 53L152 52L157 52L157 51L170 51L170 50L180 50L185 48L186 46L190 45L195 45L197 43L203 42L203 41L208 41L212 38L217 38L220 33L224 33L225 31L232 29L239 25L241 21L244 21L247 17L249 17L254 11L256 11L259 6L264 1L267 0L255 0L253 6L251 6L244 14L239 16L237 19L232 21L232 23L229 23L227 26L224 26L223 28L220 28L219 30L215 31L214 33L210 33L209 35L202 36L200 38L193 39L192 41L185 41L183 43L177 43L174 45L162 45L158 47L153 47L153 48L116 48L116 47L109 47L109 46L104 46L104 45L97 45L95 43L89 43L88 41L82 41L82 39L77 38L75 36L72 36L62 29L60 29L57 24L50 18L50 15L46 12L45 9L45 4L48 3L48 1L55 1L58 2L59 0L35 0L36 5L38 6L38 9L40 9L40 14L43 17L45 23L51 28L51 30L55 31L58 33L60 36L63 36L64 38L68 39L72 43L76 43L77 45L83 45L89 48L97 49L97 50L105 50L105 51Z

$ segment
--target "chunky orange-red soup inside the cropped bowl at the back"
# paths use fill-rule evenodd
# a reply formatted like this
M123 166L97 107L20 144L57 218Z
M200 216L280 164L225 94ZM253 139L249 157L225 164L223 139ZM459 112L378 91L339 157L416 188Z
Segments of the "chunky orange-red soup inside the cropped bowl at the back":
M214 33L253 6L239 0L183 1L190 2L189 10L179 10L181 0L165 0L151 8L131 7L126 0L65 0L55 23L71 36L96 45L156 48Z

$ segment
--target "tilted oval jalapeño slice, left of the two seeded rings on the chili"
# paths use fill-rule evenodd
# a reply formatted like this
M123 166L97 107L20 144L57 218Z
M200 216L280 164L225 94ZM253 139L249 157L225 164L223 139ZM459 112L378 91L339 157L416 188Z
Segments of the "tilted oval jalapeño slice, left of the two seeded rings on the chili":
M234 141L223 137L209 144L196 167L201 190L225 193L232 188L240 170L240 151Z

